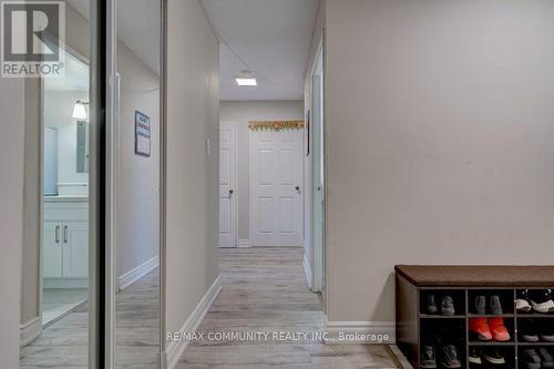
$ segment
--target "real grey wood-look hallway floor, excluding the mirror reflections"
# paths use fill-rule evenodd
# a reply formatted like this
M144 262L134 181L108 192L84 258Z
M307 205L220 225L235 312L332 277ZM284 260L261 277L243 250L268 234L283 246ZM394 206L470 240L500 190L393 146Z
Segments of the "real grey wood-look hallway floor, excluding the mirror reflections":
M177 368L399 368L387 346L271 339L274 332L311 334L325 327L321 304L306 283L302 255L296 247L222 249L223 288L198 329L204 339L189 344ZM209 332L269 332L269 338L209 340Z

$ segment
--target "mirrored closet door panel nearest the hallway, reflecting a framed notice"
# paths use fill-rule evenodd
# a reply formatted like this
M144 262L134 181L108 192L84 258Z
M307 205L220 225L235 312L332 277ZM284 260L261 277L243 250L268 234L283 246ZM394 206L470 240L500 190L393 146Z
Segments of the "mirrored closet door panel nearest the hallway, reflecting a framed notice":
M115 0L115 368L158 366L161 8Z

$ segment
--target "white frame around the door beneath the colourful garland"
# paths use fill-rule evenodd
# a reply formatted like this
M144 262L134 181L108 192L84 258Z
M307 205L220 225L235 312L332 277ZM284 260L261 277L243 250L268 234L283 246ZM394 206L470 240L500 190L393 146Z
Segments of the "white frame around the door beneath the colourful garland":
M255 163L255 134L256 132L255 131L250 131L248 130L248 185L249 185L249 188L248 188L248 237L250 238L250 246L266 246L266 245L258 245L256 244L255 242L255 229L254 229L254 219L255 219L255 202L256 202L256 184L255 184L255 168L256 168L256 165L254 165ZM305 156L304 156L304 130L301 131L298 131L298 134L301 135L301 147L300 147L300 155L301 155L301 158L300 158L300 163L301 163L301 175L300 175L300 181L301 183L299 184L300 188L301 188L301 209L302 209L302 214L301 214L301 229L300 229L300 242L297 244L297 245L279 245L279 246L284 246L284 247L305 247L304 243L305 243L305 237L304 237L304 227L305 227L305 216L306 216L306 207L305 207L305 180L304 180L304 160L305 160Z

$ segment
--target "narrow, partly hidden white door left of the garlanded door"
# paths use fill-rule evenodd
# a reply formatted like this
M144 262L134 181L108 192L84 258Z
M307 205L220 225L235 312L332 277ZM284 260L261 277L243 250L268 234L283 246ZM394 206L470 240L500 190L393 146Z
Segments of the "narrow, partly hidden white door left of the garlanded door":
M219 247L236 246L236 124L219 124Z

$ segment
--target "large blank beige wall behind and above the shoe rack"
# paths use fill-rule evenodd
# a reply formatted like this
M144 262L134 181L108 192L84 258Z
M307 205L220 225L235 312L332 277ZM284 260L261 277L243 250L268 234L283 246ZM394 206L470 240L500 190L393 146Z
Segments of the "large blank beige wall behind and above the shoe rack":
M553 264L554 2L327 1L328 318L396 264Z

